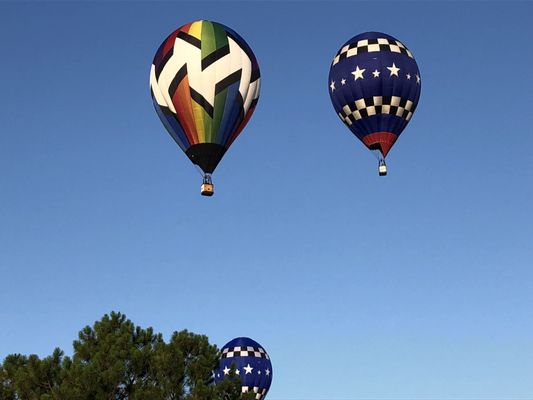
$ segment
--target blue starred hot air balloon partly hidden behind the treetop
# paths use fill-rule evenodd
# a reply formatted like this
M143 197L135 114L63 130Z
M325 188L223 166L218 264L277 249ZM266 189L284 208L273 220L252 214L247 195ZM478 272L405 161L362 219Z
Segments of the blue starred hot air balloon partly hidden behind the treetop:
M272 383L272 363L263 346L247 337L228 342L215 370L215 383L229 375L232 365L241 378L242 392L253 392L256 400L263 400Z

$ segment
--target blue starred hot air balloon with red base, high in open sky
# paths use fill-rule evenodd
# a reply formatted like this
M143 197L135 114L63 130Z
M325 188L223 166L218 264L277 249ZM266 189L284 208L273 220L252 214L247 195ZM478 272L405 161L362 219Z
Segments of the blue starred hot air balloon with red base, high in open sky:
M329 71L329 95L339 118L372 150L379 175L420 98L420 71L409 49L394 37L366 32L348 40Z

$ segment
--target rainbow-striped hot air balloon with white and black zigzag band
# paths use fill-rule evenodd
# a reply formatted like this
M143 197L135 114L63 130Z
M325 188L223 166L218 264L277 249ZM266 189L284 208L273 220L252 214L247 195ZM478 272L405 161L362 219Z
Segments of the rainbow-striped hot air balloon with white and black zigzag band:
M157 50L150 89L166 130L203 172L201 194L212 196L211 174L259 98L259 65L252 50L220 23L183 25Z

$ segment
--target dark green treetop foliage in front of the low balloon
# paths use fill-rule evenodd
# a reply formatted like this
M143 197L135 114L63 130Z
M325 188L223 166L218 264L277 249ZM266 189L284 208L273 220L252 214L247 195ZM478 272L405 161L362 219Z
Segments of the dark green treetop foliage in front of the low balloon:
M74 354L11 354L0 365L0 400L242 400L234 369L214 385L219 351L204 335L152 328L112 312L83 328Z

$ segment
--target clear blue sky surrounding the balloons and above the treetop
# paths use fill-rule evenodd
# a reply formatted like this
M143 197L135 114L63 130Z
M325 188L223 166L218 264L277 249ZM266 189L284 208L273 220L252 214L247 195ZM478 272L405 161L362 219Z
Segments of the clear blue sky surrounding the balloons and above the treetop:
M119 310L249 336L270 400L531 398L533 3L0 3L0 358ZM254 50L213 198L148 87L195 19ZM389 176L335 115L338 48L402 40L422 96Z

